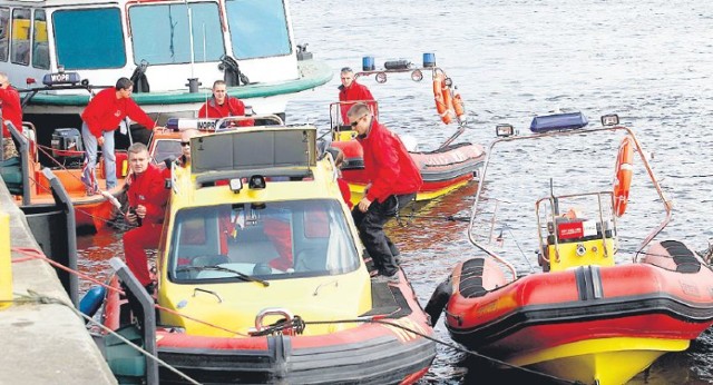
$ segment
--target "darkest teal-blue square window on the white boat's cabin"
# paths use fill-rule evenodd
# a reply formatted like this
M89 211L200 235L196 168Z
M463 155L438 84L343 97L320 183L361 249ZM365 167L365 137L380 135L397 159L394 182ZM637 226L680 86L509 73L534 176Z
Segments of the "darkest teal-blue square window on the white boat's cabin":
M66 70L121 68L126 46L118 8L52 13L57 65Z

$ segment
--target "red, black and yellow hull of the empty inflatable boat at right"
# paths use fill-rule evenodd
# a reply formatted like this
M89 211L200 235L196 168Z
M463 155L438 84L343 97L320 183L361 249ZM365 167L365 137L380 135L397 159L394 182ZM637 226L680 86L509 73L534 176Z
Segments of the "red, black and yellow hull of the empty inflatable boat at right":
M511 283L489 259L471 259L451 276L446 325L455 340L512 365L570 381L625 383L713 324L713 272L697 257L663 253Z

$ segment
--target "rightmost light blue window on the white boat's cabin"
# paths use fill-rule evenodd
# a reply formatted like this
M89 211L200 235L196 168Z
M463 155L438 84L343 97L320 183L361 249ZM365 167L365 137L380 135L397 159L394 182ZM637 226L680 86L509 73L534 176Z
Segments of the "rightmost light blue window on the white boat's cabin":
M284 56L292 52L282 0L227 0L226 17L237 59Z

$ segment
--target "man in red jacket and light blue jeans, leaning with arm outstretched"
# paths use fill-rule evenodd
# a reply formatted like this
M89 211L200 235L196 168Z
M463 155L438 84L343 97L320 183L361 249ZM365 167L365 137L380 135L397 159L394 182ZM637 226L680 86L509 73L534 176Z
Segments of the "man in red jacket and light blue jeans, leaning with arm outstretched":
M131 118L149 130L157 127L154 120L131 99L134 82L127 78L117 80L116 86L97 93L81 112L81 139L85 144L87 164L81 180L87 186L87 194L97 192L95 168L97 167L97 145L101 146L104 156L104 175L107 189L116 186L116 156L114 154L114 131L126 117Z

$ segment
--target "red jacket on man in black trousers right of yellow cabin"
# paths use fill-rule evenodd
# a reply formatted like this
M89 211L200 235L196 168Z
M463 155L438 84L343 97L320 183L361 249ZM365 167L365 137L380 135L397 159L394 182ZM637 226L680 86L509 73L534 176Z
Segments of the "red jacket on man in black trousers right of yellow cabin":
M371 182L369 200L383 203L391 195L413 194L421 188L421 172L401 139L375 118L367 136L358 140L364 150L364 171Z

